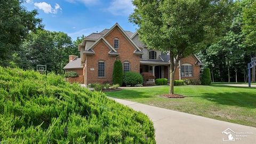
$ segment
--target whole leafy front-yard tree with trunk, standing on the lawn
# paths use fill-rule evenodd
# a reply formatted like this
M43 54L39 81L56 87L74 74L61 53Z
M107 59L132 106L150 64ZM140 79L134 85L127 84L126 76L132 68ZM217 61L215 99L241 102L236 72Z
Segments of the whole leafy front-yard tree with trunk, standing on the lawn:
M222 34L233 1L134 0L130 21L149 49L170 53L170 93L178 61L199 52ZM176 63L174 64L174 58Z

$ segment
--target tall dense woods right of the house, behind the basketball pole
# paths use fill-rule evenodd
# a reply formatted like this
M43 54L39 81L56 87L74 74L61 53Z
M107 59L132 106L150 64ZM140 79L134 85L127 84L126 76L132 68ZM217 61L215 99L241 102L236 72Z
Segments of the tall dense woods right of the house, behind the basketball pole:
M235 1L231 22L219 40L198 55L213 82L246 82L247 63L256 57L256 1ZM252 69L255 82L255 67Z

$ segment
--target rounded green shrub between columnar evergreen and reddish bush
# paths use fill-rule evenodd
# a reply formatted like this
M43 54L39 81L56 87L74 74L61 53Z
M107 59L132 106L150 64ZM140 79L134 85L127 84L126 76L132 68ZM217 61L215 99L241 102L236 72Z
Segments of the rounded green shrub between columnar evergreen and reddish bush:
M135 73L133 71L127 71L124 73L124 84L125 85L136 85L136 84L142 84L143 78L139 73Z

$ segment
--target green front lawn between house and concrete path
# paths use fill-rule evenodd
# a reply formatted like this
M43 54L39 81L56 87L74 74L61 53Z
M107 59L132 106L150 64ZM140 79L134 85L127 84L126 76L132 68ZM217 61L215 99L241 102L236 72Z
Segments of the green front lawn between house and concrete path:
M174 92L183 99L160 97L169 86L143 87L107 92L115 97L147 105L182 111L189 114L219 119L256 127L256 89L232 86L175 86Z

